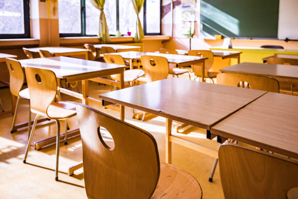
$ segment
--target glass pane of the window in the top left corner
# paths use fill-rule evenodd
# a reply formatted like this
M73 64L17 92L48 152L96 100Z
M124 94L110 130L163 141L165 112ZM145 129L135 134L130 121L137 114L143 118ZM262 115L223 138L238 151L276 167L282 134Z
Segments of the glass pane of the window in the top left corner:
M0 0L0 34L24 34L23 0Z

